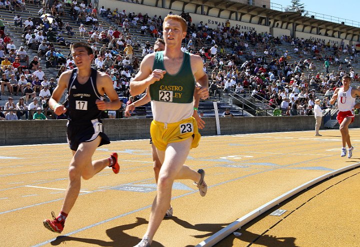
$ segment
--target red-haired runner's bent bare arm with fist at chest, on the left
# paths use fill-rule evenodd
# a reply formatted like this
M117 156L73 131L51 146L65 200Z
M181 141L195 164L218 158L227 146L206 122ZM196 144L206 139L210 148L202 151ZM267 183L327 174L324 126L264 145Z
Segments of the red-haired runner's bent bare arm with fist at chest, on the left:
M163 78L166 71L161 69L152 70L155 54L148 54L140 63L140 70L130 82L130 94L132 96L143 93L149 85Z

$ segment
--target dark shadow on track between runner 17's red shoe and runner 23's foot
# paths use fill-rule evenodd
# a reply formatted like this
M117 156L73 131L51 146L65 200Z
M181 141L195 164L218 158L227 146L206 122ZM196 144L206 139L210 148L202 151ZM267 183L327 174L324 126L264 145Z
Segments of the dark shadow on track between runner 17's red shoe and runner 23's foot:
M69 246L71 246L71 241L76 241L103 247L133 247L137 245L141 241L141 239L130 236L124 233L124 231L133 229L144 224L148 224L148 221L143 218L136 217L136 219L137 221L134 223L107 229L106 234L112 241L59 236L56 238L56 240L51 242L51 245L57 246L60 244L68 244ZM157 243L155 241L152 242L151 246L163 247L160 243Z

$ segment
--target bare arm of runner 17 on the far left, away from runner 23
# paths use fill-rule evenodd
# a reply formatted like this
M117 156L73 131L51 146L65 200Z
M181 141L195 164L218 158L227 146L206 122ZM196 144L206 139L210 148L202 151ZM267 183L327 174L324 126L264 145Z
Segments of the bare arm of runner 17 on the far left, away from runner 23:
M72 70L68 70L60 75L57 86L53 90L51 98L49 99L49 107L56 115L61 115L62 113L66 112L66 108L62 104L58 103L58 101L61 99L63 92L67 88L71 77L71 72Z

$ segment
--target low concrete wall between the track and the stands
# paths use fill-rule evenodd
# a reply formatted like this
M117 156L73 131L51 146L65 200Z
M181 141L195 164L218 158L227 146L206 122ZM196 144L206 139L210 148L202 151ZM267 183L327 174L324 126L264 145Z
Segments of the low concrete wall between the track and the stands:
M204 121L201 135L216 135L215 118ZM112 141L149 138L150 123L151 119L103 120L105 133ZM221 135L313 130L314 125L313 116L220 118ZM66 142L66 120L0 121L0 126L1 146ZM350 127L360 128L360 116L355 116Z

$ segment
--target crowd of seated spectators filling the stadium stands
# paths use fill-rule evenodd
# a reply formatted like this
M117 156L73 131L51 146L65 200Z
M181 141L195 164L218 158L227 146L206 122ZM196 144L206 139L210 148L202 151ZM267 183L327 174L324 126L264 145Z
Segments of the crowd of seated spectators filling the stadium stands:
M137 0L132 2L138 3ZM61 16L65 14L65 6L76 27L63 23ZM20 6L6 7L12 10ZM139 43L137 37L130 35L129 28L138 28L142 35L154 38L162 36L161 15L149 16L104 6L96 8L85 1L46 0L38 15L24 22L20 14L14 17L14 25L23 28L24 44L18 49L8 34L0 32L1 94L5 95L5 88L10 97L21 94L24 106L37 96L46 101L59 75L74 68L70 54L54 46L58 43L71 48L72 39L64 36L86 39L94 53L93 67L112 78L113 87L125 103L129 99L129 82L139 68L141 57L154 52L152 43ZM243 31L240 26L232 26L229 20L210 28L202 21L193 23L189 13L182 12L181 16L188 27L181 49L203 58L211 97L220 98L231 92L248 94L272 108L281 109L284 115L311 114L315 93L325 94L322 106L327 107L333 88L341 85L345 73L353 80L360 79L352 67L358 52L354 45L345 45L343 41L330 45L286 35L274 37L267 32ZM112 22L113 26L104 28L99 18ZM282 44L290 45L293 50L281 50L278 47ZM25 45L37 51L37 56L29 59ZM341 55L346 58L341 60ZM46 68L60 66L57 76L48 80L39 59L45 60ZM21 66L20 62L26 65ZM319 68L319 63L323 67ZM333 69L334 66L337 69ZM322 73L317 72L319 70Z

